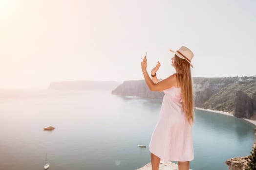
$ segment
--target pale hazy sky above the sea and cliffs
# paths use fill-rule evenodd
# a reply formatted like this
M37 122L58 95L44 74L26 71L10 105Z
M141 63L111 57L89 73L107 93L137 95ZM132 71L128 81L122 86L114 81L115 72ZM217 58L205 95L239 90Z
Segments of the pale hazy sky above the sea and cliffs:
M256 75L255 0L0 0L0 89L57 81L158 79L173 53L194 53L192 77Z

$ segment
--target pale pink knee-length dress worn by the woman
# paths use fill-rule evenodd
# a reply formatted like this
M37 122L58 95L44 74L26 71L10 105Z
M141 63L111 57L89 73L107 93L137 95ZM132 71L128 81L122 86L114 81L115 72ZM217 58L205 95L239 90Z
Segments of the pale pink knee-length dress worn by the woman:
M172 86L163 91L165 95L149 150L164 162L191 161L194 159L192 126L181 110L181 87Z

